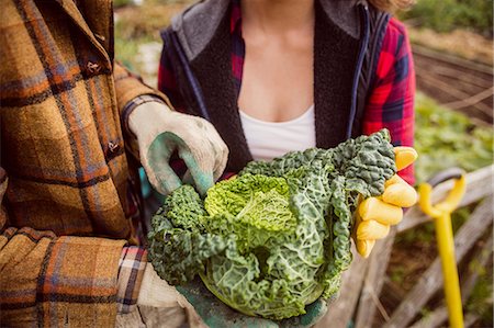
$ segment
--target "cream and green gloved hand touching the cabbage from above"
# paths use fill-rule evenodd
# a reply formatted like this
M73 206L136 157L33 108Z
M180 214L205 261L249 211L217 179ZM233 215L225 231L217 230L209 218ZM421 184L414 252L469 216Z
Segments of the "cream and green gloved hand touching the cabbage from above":
M228 148L204 118L173 112L159 102L146 102L131 113L128 126L137 137L141 162L150 184L164 195L182 184L169 165L175 150L201 194L226 167Z

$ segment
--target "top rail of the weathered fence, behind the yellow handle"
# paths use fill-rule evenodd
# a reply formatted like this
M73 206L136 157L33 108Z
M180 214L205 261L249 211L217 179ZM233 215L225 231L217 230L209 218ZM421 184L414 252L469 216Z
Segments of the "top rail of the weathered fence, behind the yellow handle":
M494 181L493 177L494 166L489 166L474 172L468 173L465 176L467 191L463 200L460 202L460 207L472 204L486 196L492 196ZM442 200L449 193L452 185L453 181L447 181L436 186L433 191L433 202ZM398 224L398 233L413 228L428 220L430 220L430 218L422 212L420 207L417 204L409 208L403 220Z

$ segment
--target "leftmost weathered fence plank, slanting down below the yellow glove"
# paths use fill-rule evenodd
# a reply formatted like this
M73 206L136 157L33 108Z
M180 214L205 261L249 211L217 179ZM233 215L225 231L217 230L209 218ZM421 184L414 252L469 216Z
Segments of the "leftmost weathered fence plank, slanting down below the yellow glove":
M369 261L357 253L353 245L351 252L353 261L350 269L343 273L340 295L329 304L328 312L314 328L346 328L353 315Z

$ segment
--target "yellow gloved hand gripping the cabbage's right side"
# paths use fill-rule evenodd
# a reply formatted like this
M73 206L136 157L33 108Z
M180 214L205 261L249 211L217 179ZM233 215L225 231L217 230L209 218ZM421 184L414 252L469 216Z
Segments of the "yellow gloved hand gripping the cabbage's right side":
M417 152L411 147L394 148L397 170L413 163ZM353 226L353 240L357 251L363 258L369 257L377 239L390 233L390 226L398 224L403 218L402 207L409 207L417 202L415 189L397 174L384 184L384 193L379 197L369 197L357 208Z

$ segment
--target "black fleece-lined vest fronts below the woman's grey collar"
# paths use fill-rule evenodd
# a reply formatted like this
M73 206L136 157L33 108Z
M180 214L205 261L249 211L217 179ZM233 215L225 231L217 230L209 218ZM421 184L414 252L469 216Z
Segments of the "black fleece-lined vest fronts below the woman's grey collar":
M317 1L315 10L316 146L330 148L348 138L350 125L352 137L361 134L363 110L369 90L372 90L373 75L390 15L372 7L367 10L366 18L361 18L368 20L369 26L368 43L363 49L363 41L340 30L326 16ZM238 114L232 75L229 20L228 10L213 38L192 61L184 59L177 35L170 27L162 31L161 36L179 92L186 101L187 113L211 121L231 149L226 171L238 172L252 157ZM364 27L362 24L362 29ZM360 72L357 71L359 60L362 61ZM350 117L352 99L356 101L355 117Z

